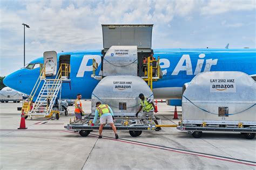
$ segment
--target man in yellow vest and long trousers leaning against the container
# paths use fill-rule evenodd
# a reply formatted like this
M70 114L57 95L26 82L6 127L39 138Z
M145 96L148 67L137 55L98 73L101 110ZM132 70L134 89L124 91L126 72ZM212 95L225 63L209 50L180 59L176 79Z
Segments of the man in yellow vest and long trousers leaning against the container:
M149 116L154 121L154 123L158 125L156 117L154 116L154 112L157 112L154 102L150 98L144 97L144 94L142 93L139 94L139 98L140 98L140 107L136 113L136 117L138 117L139 112L143 109L143 113L140 116L140 118L144 119L146 116ZM161 128L157 127L156 131L159 131L159 130L161 130Z

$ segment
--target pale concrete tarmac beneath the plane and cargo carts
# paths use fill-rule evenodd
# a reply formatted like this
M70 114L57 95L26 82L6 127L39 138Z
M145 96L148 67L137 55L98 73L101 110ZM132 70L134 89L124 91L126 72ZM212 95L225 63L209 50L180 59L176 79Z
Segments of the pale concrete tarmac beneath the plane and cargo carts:
M26 119L26 130L18 130L22 103L0 103L0 169L256 169L256 143L240 133L204 132L201 138L176 128L144 131L131 137L119 131L98 131L81 137L64 129L74 117L59 120ZM90 113L91 102L83 101ZM174 107L158 103L161 124L177 124ZM181 108L178 107L181 118Z

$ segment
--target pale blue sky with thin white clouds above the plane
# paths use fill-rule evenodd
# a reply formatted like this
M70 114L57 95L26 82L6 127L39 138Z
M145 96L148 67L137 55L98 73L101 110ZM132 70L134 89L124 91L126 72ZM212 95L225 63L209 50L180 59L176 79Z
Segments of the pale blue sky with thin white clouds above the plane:
M45 51L102 49L101 24L154 24L153 48L256 48L256 0L0 0L0 76Z

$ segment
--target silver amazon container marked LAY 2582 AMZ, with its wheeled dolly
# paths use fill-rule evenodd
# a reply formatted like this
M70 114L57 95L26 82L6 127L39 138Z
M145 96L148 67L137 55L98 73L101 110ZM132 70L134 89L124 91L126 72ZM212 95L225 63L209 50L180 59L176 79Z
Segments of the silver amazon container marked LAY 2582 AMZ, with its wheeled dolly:
M196 138L202 131L241 132L252 139L256 130L256 82L242 72L204 72L186 88L182 121L177 129Z

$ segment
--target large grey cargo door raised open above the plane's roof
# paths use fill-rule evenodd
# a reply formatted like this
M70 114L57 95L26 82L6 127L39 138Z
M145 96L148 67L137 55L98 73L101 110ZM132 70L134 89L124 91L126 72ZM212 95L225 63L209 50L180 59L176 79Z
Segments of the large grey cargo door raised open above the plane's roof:
M146 25L102 25L103 47L137 46L151 48L152 24Z

